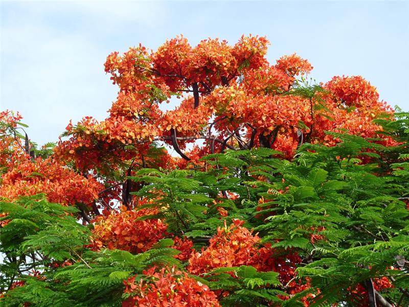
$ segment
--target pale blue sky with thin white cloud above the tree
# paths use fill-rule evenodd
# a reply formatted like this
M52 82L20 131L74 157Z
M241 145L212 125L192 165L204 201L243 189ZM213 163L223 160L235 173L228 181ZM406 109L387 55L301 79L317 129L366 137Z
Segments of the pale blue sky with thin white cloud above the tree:
M0 108L19 111L40 145L70 121L104 119L117 95L103 63L141 42L156 49L184 34L232 44L265 35L270 62L297 52L311 77L362 75L409 111L409 2L3 1Z

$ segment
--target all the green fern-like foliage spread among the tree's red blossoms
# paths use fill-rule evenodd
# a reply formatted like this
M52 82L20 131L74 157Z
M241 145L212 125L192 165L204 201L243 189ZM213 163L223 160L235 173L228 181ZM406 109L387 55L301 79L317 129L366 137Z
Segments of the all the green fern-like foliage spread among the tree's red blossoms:
M319 108L320 88L303 86L294 93L310 97ZM206 171L141 169L129 177L142 186L137 196L149 200L138 209L158 209L141 220L164 218L170 233L186 235L200 248L224 221L239 218L258 233L261 244L274 249L274 257L300 257L293 280L308 280L308 287L299 293L288 293L289 284L282 284L277 272L251 266L192 275L212 290L228 291L220 296L223 306L291 307L305 300L311 306L354 306L352 291L379 278L394 286L379 291L384 299L409 305L404 295L409 288L409 119L405 113L396 118L377 121L396 146L331 133L339 141L335 146L306 143L291 161L277 151L253 148L204 157ZM154 265L181 270L187 265L174 258L179 251L169 237L136 255L93 251L89 229L73 217L77 209L48 203L41 195L0 205L7 213L0 218L6 224L0 249L5 306L120 305L123 280L143 279L142 271ZM11 289L16 281L25 284Z

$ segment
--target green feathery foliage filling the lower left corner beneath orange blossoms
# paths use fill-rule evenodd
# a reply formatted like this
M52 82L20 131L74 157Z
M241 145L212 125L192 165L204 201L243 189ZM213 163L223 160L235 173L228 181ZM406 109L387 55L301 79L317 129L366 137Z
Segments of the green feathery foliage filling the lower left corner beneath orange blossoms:
M49 203L42 195L0 206L8 214L2 220L9 220L1 236L6 256L1 287L7 291L2 306L117 306L127 277L153 265L180 266L173 258L179 251L168 247L171 239L138 255L90 250L88 228L70 215L77 209Z

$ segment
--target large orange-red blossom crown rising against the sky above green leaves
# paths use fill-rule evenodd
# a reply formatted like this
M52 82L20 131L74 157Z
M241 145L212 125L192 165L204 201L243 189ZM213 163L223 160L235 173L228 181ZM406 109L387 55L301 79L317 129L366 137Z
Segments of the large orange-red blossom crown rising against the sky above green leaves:
M326 130L376 137L380 127L372 120L391 109L374 86L360 76L300 84L297 76L309 73L311 64L296 54L270 64L267 45L265 37L242 36L234 46L206 39L192 47L180 36L156 52L140 45L110 54L105 72L119 94L109 117L70 123L70 138L58 144L56 156L82 171L106 173L124 161L133 160L132 168L154 163L145 161L154 141L197 161L225 148L267 147L290 157L304 142L333 145ZM163 102L176 99L175 109L162 110ZM185 152L188 143L195 146ZM163 156L155 163L186 165Z

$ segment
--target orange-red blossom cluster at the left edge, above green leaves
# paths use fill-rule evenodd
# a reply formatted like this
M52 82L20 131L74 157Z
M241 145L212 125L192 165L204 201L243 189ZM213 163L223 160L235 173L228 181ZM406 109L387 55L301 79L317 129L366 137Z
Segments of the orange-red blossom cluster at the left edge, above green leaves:
M19 196L44 193L50 202L92 206L103 185L51 157L30 157L31 143L27 136L25 144L18 136L24 133L19 129L20 119L20 115L9 111L0 113L0 166L4 171L0 197L15 200Z

